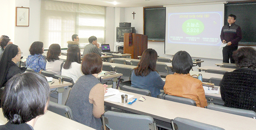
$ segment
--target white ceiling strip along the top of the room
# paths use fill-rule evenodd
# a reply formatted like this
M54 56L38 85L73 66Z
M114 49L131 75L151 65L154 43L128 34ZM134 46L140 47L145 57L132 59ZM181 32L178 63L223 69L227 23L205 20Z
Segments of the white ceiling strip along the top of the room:
M190 4L205 2L243 1L243 0L56 0L81 4L100 5L105 7L152 7L170 4ZM114 5L113 2L117 4Z

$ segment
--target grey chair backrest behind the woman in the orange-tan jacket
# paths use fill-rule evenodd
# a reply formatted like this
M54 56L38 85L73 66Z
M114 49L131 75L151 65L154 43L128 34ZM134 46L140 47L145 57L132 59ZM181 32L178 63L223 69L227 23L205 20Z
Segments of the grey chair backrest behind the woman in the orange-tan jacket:
M188 98L184 98L184 97L172 96L172 95L165 94L163 96L163 99L168 100L168 101L174 101L177 103L184 103L184 104L188 104L188 105L197 106L197 103L195 103L195 101L193 99L188 99Z

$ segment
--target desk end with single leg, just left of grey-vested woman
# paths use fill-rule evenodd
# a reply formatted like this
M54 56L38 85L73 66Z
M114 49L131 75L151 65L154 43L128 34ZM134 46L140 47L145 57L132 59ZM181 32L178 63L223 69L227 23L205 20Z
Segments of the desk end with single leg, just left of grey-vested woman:
M54 81L54 83L52 83ZM62 92L64 92L64 87L72 85L72 83L64 81L63 83L59 83L58 79L53 78L52 82L48 82L50 89L55 90L57 88L58 92L58 103L62 103ZM51 84L52 83L52 84Z

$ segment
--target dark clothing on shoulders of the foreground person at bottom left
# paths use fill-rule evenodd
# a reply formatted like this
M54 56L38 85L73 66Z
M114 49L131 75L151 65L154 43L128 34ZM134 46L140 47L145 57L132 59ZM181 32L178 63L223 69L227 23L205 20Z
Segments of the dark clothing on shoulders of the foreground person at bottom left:
M12 124L7 122L5 125L0 126L0 130L34 130L32 126L27 123L22 124Z

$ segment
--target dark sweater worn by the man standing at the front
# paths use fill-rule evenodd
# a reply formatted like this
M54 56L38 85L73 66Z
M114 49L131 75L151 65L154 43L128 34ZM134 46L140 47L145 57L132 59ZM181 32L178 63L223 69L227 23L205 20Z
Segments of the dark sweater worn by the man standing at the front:
M220 34L221 41L226 40L226 42L231 42L230 47L237 47L238 42L242 39L242 30L235 23L229 25L224 25L221 29Z

